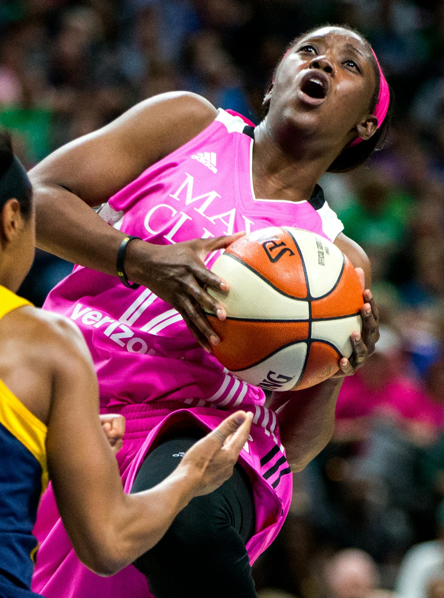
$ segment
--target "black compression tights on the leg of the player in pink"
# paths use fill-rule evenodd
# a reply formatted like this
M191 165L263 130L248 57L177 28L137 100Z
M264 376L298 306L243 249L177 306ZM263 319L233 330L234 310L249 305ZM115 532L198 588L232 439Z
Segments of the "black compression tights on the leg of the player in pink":
M195 442L195 437L173 438L154 449L131 492L164 480ZM236 465L218 490L192 499L134 565L146 575L155 598L257 598L245 548L254 526L250 483Z

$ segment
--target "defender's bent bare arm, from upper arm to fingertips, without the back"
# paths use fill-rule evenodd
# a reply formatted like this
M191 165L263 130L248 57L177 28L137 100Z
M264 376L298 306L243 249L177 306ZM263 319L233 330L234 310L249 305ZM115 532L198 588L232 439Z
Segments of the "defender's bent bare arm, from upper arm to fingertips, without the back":
M166 480L126 495L97 417L93 362L72 322L56 319L48 351L56 364L47 453L57 506L79 559L99 575L114 575L152 548L194 496L212 492L230 477L252 417L230 416L195 444Z

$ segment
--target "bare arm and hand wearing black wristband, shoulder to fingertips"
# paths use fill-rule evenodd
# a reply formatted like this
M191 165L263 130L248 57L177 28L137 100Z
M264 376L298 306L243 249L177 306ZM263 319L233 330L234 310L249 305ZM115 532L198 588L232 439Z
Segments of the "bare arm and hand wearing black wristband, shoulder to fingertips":
M81 266L117 275L116 258L125 233L109 226L94 206L209 126L217 115L210 102L192 93L166 93L64 147L33 168L29 177L36 204L37 246ZM233 237L233 239L236 237ZM225 309L202 288L226 291L203 259L233 239L204 239L170 247L136 240L125 256L131 282L148 286L175 307L200 343L210 350L218 335L201 307L225 318Z

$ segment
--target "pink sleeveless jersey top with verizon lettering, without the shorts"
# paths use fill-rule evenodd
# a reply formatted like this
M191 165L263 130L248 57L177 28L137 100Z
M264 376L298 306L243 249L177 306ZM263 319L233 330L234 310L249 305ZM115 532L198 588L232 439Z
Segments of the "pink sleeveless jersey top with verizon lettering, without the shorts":
M160 245L271 225L334 240L342 224L319 187L310 202L255 197L249 129L220 110L213 124L111 197L100 214L125 233ZM207 257L208 267L218 255ZM103 407L163 400L197 407L264 404L262 390L207 355L179 313L149 289L132 291L116 277L76 267L50 293L45 309L64 313L81 328ZM125 376L116 375L123 371Z

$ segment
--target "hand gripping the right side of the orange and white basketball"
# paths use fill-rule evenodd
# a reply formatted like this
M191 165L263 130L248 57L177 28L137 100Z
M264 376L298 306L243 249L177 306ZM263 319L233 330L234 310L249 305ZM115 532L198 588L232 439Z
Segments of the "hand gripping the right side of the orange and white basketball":
M364 271L356 268L362 288L364 289ZM364 304L361 309L362 332L355 331L351 334L353 353L350 359L343 357L339 360L339 371L332 378L353 376L362 367L368 357L375 351L375 344L379 339L379 316L373 295L370 289L363 291Z

